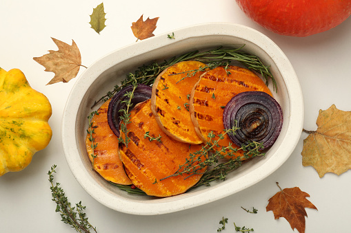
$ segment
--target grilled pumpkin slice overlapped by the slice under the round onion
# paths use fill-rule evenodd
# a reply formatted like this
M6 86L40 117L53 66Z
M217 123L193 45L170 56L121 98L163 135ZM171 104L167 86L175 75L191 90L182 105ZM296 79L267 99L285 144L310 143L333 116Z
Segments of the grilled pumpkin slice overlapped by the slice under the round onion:
M151 109L157 124L163 132L179 142L203 142L194 130L189 100L192 87L204 72L198 71L194 76L186 77L187 71L200 67L205 67L205 64L194 60L177 63L162 71L152 86Z

